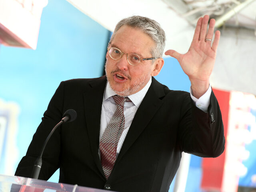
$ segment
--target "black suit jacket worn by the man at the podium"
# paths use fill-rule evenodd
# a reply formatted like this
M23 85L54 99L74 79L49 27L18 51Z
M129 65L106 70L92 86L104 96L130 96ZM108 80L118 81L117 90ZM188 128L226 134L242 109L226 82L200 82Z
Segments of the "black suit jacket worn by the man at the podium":
M212 92L208 113L198 109L188 92L169 90L152 78L132 121L108 180L100 158L100 115L106 76L62 82L44 113L16 175L30 177L42 144L68 109L77 119L62 124L43 154L39 179L60 168L59 182L120 192L167 192L182 151L217 157L224 151L220 108Z

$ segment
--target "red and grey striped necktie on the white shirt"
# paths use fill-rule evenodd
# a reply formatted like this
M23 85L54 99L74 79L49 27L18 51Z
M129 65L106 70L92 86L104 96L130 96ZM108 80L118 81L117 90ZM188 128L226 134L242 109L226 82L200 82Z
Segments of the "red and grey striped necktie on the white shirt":
M114 95L112 98L116 102L116 111L100 139L100 160L106 179L116 162L116 149L124 130L124 102L131 102L128 97L119 95Z

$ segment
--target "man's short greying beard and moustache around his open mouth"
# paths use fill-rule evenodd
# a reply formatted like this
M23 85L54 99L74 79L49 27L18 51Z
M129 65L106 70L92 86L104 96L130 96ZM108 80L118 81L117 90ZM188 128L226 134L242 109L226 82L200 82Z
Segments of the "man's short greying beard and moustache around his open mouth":
M146 86L146 84L148 83L148 76L150 75L150 70L149 70L147 73L140 76L140 78L134 80L134 82L131 82L128 86L125 86L121 90L117 90L114 86L114 83L116 83L116 82L113 82L113 80L111 79L111 74L119 72L120 74L122 74L124 77L126 77L130 81L132 81L132 78L128 74L126 74L125 72L121 71L118 68L116 68L116 70L112 70L111 72L108 72L106 69L106 63L105 63L105 72L106 72L107 80L108 80L112 90L114 90L114 92L116 92L116 94L118 94L119 96L123 96L123 97L132 95L132 94L142 90L142 88L144 88L144 86Z

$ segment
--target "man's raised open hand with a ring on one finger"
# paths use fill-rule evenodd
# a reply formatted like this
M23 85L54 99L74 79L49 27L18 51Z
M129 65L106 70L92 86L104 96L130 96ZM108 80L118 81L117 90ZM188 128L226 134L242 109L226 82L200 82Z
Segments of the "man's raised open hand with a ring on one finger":
M192 43L186 54L180 54L175 50L165 52L166 55L178 60L182 70L190 79L192 92L196 98L202 96L209 87L209 78L214 67L220 40L220 31L216 31L212 43L215 20L210 20L207 32L208 21L208 15L198 19Z

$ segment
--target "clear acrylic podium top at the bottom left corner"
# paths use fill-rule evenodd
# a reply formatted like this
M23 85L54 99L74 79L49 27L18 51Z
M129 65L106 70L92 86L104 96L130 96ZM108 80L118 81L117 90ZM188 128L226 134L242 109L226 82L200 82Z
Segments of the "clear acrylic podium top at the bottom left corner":
M106 190L0 174L0 192L106 192Z

